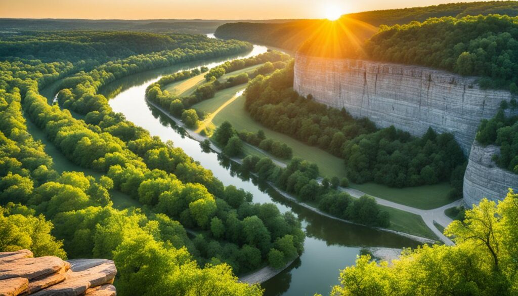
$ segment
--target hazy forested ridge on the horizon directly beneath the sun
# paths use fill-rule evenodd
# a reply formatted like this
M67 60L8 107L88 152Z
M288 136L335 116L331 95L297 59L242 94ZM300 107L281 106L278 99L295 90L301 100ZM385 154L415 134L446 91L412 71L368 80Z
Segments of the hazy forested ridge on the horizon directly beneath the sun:
M322 41L329 38L330 30L335 30L333 42L344 48L349 47L351 36L356 42L363 43L378 31L379 25L406 24L412 21L425 21L428 18L464 17L467 15L500 14L518 16L516 1L489 1L472 3L453 3L427 7L375 10L351 13L336 22L326 20L297 20L286 23L239 22L226 23L218 27L215 35L226 39L239 39L259 44L297 50L310 37L307 51L312 54L329 54L328 51L315 50ZM346 28L346 29L344 29Z

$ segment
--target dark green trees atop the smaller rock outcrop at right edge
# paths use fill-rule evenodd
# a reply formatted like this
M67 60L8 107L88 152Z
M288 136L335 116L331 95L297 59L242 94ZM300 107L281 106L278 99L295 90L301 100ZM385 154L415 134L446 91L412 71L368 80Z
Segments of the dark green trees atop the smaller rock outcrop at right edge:
M506 116L506 109L516 110L518 105L502 101L501 109L491 119L483 119L477 132L477 141L482 145L500 146L500 154L493 160L500 167L518 174L518 116Z

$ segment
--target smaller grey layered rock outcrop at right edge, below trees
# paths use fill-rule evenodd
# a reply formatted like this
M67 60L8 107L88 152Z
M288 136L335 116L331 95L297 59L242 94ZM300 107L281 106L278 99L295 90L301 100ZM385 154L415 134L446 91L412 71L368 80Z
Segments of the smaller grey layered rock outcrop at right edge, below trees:
M503 170L492 160L493 155L499 153L500 147L484 147L473 142L464 175L464 201L468 206L478 204L483 198L502 200L509 188L518 192L518 175Z

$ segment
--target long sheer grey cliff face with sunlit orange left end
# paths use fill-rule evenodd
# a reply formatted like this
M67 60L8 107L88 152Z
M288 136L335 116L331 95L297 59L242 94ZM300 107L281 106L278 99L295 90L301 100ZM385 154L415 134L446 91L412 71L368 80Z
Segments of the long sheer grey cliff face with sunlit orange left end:
M394 125L416 136L429 126L452 133L466 155L480 120L511 98L506 91L480 89L474 78L436 69L302 54L295 58L293 87L382 128Z

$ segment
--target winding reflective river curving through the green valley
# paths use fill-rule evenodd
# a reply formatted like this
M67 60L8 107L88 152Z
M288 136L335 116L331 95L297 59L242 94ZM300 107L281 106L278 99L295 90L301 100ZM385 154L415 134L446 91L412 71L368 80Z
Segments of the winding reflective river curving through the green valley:
M114 111L121 112L128 120L147 129L151 135L160 136L164 141L172 140L175 146L182 148L194 160L211 170L223 184L243 188L253 194L254 202L274 203L281 212L291 211L302 221L307 236L304 253L287 269L262 284L266 289L265 295L301 296L314 293L326 295L333 285L339 283L339 270L354 264L362 248L416 247L418 243L397 234L320 216L287 201L268 186L238 176L233 169L234 164L214 152L203 152L196 140L186 137L174 121L149 105L144 98L146 87L163 75L200 66L211 68L227 60L251 57L266 50L264 46L254 45L253 50L248 54L227 59L197 61L135 74L113 81L101 89L100 93L109 98L110 106ZM52 89L55 87L51 84L42 90L42 94L51 98L50 93L55 94L55 90Z

